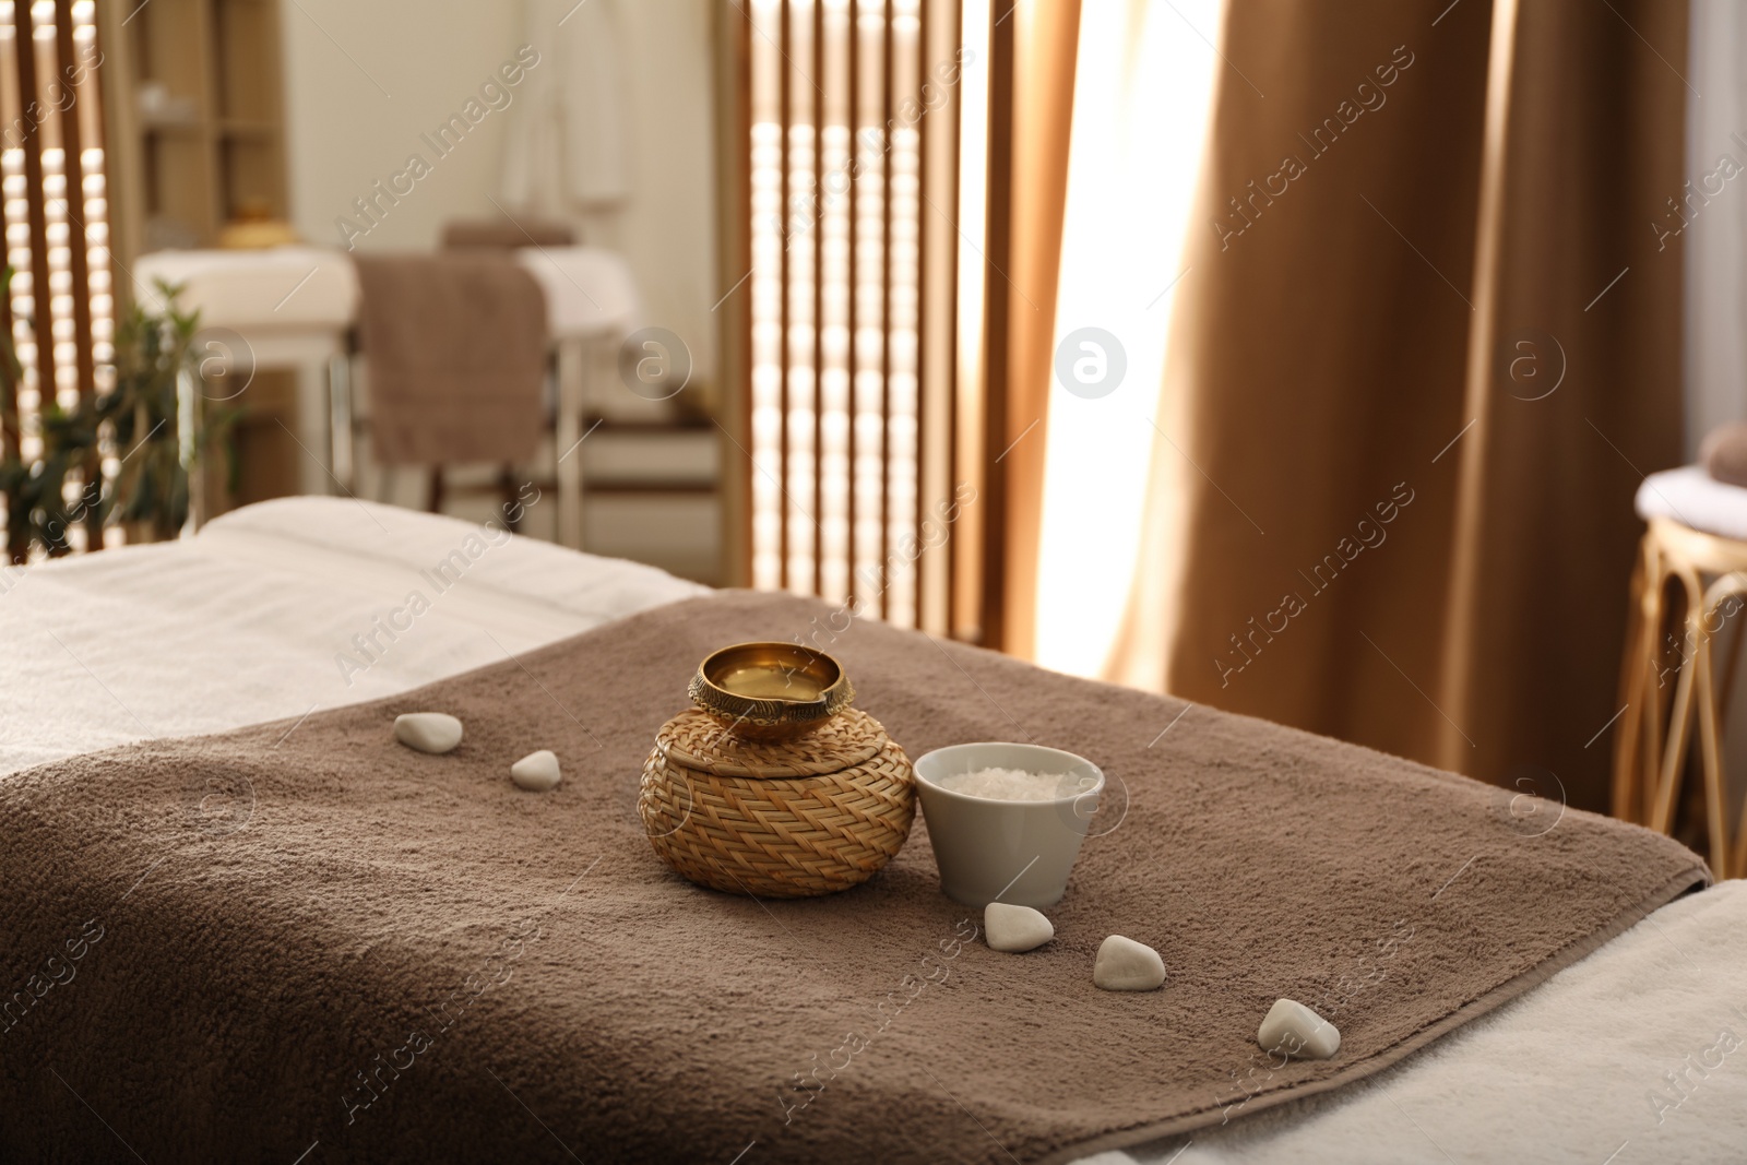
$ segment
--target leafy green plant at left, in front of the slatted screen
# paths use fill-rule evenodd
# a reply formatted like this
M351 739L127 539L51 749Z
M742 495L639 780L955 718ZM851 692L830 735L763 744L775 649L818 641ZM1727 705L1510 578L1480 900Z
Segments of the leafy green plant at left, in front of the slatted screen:
M7 293L12 269L0 274ZM86 391L73 409L49 400L40 412L42 456L26 463L16 449L0 461L0 493L7 501L9 552L14 561L30 543L51 555L66 554L68 531L79 524L122 522L129 538L175 538L189 517L189 472L201 454L234 424L239 407L196 410L194 440L183 447L178 388L196 376L194 334L199 313L176 307L178 286L159 283L162 313L142 304L129 307L115 328L115 384L107 393ZM19 431L14 396L21 370L12 337L0 337L0 402L10 433ZM197 381L196 381L197 383ZM105 489L91 470L108 431L121 454L121 470ZM10 445L10 444L9 444ZM80 496L66 501L66 480L86 475Z

